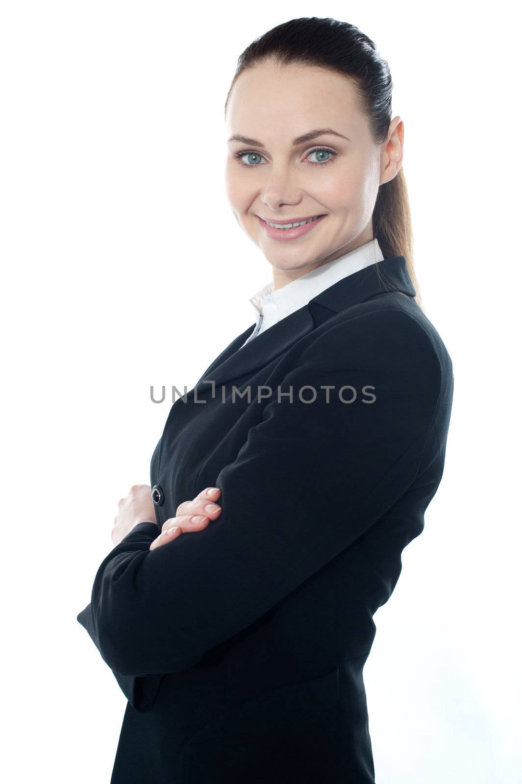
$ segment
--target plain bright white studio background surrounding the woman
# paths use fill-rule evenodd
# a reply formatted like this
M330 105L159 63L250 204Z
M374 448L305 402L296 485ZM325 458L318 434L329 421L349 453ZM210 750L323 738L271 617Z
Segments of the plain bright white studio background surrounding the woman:
M245 46L314 15L357 24L390 63L416 272L455 372L444 477L364 670L376 780L517 779L520 90L508 8L2 4L9 782L110 779L126 701L76 615L113 547L118 499L149 482L169 412L150 385L190 390L253 325L248 298L271 270L226 201L223 106Z

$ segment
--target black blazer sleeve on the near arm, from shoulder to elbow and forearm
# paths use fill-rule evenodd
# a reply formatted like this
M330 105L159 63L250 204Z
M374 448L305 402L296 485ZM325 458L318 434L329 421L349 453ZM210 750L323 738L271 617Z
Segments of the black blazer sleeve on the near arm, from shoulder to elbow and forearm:
M390 309L338 321L294 364L216 477L217 520L154 550L158 529L140 524L100 565L84 612L116 672L194 666L350 546L415 480L442 380L415 318Z

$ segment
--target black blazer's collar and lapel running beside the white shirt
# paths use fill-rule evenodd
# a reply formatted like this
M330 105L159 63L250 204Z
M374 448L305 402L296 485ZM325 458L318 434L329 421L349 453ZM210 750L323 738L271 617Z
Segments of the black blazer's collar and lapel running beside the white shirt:
M198 399L205 392L208 394L208 390L212 390L210 381L221 385L230 379L252 375L308 332L332 318L333 314L373 296L393 291L415 296L404 256L392 256L347 275L244 346L243 343L256 326L252 324L212 362L205 376L201 376L194 389L187 393L187 401L194 397L196 389ZM217 390L215 394L219 394Z

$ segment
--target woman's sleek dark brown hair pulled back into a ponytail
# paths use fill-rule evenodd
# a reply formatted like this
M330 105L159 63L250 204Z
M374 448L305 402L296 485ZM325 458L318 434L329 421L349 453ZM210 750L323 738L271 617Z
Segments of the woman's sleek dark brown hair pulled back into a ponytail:
M373 140L376 144L386 140L393 89L390 67L377 52L375 43L358 27L331 17L310 16L278 24L256 38L237 60L225 101L225 115L230 93L240 74L267 60L281 65L328 68L352 79L362 110L368 117ZM422 307L413 266L411 213L403 167L393 180L379 186L372 226L385 258L404 256L417 294L415 301Z

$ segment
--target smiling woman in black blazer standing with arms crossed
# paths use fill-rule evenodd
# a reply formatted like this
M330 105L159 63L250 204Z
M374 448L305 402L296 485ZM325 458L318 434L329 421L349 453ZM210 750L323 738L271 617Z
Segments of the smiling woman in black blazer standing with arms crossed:
M238 62L227 196L273 281L172 405L78 615L129 700L113 784L375 780L372 615L439 485L453 388L415 300L391 89L332 19Z

